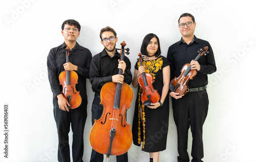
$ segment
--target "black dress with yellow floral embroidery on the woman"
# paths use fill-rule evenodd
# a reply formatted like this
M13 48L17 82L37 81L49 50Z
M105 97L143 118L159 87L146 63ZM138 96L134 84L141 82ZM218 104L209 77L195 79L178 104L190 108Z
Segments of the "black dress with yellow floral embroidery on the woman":
M142 61L145 65L145 72L153 76L153 87L162 95L163 68L170 63L164 56L155 60ZM138 70L140 62L137 61L135 69ZM158 152L166 149L168 121L169 121L169 95L167 94L163 106L156 109L148 108L141 103L142 87L138 87L133 119L133 142L140 146L143 143L142 151ZM142 119L140 107L142 109Z

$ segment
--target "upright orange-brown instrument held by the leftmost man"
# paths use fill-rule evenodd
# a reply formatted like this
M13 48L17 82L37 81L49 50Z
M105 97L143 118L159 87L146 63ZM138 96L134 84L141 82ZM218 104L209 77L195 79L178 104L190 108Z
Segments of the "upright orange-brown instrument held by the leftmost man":
M70 50L66 48L66 63L69 62ZM76 91L78 75L74 71L63 71L59 74L59 82L62 85L62 95L69 102L69 109L74 109L80 106L82 99L79 91Z

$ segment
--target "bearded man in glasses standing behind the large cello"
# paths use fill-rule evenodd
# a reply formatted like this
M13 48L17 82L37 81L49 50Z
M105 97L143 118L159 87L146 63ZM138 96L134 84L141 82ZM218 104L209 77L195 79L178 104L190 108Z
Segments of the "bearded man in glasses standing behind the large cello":
M100 90L107 82L115 83L132 83L131 62L129 58L124 56L123 61L120 61L120 54L116 53L116 32L110 27L105 27L100 30L101 44L104 49L99 54L95 55L91 62L90 82L92 90L95 92L92 104L92 124L94 120L101 117L103 106L100 105ZM119 68L123 74L119 75ZM116 156L117 162L128 161L127 152ZM90 162L102 162L103 155L92 149Z

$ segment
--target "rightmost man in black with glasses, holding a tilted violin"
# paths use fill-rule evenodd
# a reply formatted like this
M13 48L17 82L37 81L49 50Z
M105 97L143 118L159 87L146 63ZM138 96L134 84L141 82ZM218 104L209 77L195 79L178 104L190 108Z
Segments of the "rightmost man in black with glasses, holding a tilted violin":
M167 59L170 61L170 80L179 77L185 63L190 63L191 70L197 70L197 75L188 82L188 92L179 96L171 91L174 121L178 133L178 161L189 162L187 153L188 129L190 127L193 142L191 156L192 162L200 161L203 152L203 124L208 111L208 95L206 85L207 74L216 72L214 53L208 41L198 39L195 35L196 22L193 15L184 13L180 16L179 30L182 35L180 41L171 45L168 49ZM198 61L198 51L208 46L208 54L201 56ZM170 89L173 90L173 89Z

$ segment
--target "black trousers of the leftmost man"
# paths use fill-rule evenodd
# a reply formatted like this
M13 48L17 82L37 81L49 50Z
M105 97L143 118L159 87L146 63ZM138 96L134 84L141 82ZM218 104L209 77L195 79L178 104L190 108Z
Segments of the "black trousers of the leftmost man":
M58 161L70 162L69 132L71 124L73 132L73 161L82 162L83 130L87 118L87 99L82 100L79 107L69 111L59 109L58 100L53 99L53 113L58 131Z

